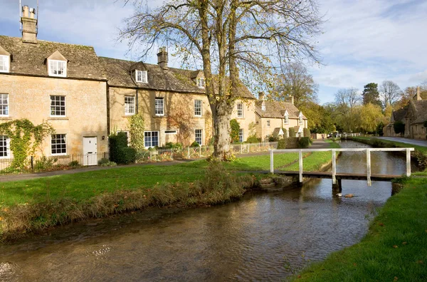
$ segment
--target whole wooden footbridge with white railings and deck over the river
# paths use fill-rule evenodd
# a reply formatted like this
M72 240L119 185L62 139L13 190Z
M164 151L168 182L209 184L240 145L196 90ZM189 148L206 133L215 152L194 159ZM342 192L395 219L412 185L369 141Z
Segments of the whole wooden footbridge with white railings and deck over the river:
M392 174L371 174L371 152L406 152L406 176L411 176L411 151L413 148L342 148L342 149L285 149L285 150L270 150L270 173L280 174L290 177L295 177L296 182L302 183L304 177L311 178L329 178L332 179L332 189L341 191L342 179L367 179L368 185L371 186L371 181L391 181L401 175ZM274 169L274 154L279 152L297 152L299 154L299 171L286 172ZM304 172L302 169L302 155L305 152L332 152L332 172ZM337 156L339 152L366 152L367 155L367 173L337 173Z

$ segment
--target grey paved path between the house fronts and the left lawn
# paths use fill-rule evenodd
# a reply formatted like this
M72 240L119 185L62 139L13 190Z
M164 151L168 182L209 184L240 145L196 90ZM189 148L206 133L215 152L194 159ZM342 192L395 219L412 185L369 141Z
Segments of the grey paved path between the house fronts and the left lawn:
M329 144L327 142L324 142L322 140L315 140L313 141L312 148L313 149L320 149L320 148L327 148L329 147ZM268 155L269 152L253 152L248 154L242 154L238 155L238 157L252 157L252 156L260 156L260 155ZM198 159L200 160L200 159ZM79 169L65 169L65 170L56 170L54 172L38 172L38 173L29 173L29 174L10 174L10 175L3 175L0 176L0 182L9 182L9 181L19 181L19 180L29 180L29 179L36 179L41 177L50 177L50 176L56 176L56 175L63 175L63 174L75 174L79 172L94 172L96 170L102 170L102 169L114 169L114 168L122 168L122 167L140 167L143 165L174 165L174 164L181 164L184 162L193 162L194 160L174 160L171 162L149 162L144 164L128 164L128 165L120 165L117 167L82 167Z

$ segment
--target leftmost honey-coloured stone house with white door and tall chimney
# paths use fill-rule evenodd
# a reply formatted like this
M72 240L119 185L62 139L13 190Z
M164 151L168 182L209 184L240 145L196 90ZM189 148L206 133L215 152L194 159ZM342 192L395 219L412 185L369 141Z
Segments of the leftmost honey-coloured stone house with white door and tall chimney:
M38 40L33 18L25 6L22 37L0 36L0 122L51 123L43 155L107 152L107 80L93 47ZM11 157L7 136L0 157Z

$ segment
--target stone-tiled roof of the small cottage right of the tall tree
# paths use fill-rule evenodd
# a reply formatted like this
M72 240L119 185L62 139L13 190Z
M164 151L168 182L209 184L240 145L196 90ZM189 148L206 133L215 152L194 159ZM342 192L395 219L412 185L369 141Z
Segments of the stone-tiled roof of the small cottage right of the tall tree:
M265 110L261 108L263 102L265 103ZM272 100L257 100L255 102L255 113L260 115L260 117L283 118L285 117L286 110L288 110L289 118L298 118L300 115L300 110L292 103ZM302 118L307 120L304 114L302 114Z

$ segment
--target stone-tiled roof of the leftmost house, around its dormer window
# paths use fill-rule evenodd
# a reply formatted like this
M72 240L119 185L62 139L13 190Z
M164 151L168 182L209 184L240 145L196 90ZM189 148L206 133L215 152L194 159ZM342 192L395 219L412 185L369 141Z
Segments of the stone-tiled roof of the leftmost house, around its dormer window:
M46 58L59 51L67 63L68 78L105 80L104 70L92 46L37 40L23 43L21 38L0 36L0 46L11 54L10 73L48 76Z

